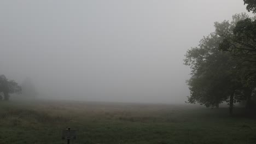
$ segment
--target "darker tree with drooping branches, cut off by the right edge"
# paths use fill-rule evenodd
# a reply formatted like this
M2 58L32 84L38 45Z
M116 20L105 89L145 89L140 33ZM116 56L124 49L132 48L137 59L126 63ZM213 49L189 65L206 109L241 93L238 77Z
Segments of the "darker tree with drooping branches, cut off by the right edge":
M247 99L247 108L252 107L251 96L256 87L256 20L255 17L245 17L231 25L226 25L227 30L216 29L223 38L219 44L220 50L228 51L232 57L239 59L237 67L241 71L243 94ZM223 25L223 23L217 23ZM251 106L250 106L251 105Z

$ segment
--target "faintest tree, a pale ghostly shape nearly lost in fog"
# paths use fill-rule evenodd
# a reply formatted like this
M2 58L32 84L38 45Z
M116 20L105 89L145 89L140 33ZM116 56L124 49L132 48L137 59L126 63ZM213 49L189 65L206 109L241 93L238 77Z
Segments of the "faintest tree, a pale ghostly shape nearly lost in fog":
M21 87L23 98L33 99L38 95L36 87L33 85L32 80L28 77L24 80L24 82L22 82Z

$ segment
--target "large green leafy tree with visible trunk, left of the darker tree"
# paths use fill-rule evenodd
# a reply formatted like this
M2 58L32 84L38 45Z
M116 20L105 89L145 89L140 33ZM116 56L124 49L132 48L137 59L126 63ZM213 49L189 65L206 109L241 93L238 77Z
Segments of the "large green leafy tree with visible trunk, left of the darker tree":
M231 22L216 22L216 32L204 37L199 47L187 51L184 64L191 68L191 78L188 81L189 103L218 107L223 101L228 101L232 113L234 103L245 99L245 86L241 76L245 68L240 65L238 57L220 50L220 43L224 39L220 35L229 35L230 29L234 29L238 21L247 17L245 13L236 14Z

